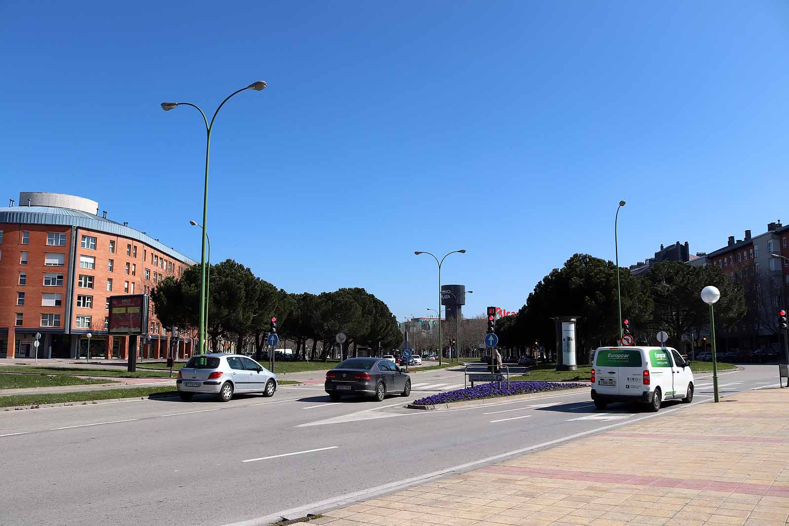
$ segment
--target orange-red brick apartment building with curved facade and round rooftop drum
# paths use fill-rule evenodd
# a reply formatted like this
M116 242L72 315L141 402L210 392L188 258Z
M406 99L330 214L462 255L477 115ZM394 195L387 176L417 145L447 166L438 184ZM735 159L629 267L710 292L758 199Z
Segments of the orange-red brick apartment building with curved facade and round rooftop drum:
M169 328L149 307L148 334L111 336L110 296L150 293L195 264L146 233L99 216L99 203L49 192L21 192L0 207L0 358L166 356ZM178 339L179 356L196 340Z

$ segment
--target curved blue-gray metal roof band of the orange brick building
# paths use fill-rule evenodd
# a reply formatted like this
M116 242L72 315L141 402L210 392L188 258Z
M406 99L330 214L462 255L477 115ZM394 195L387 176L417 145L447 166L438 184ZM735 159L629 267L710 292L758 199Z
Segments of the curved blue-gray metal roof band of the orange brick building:
M148 234L123 226L121 223L101 218L98 215L88 214L87 212L72 210L71 208L59 207L0 207L0 223L21 223L23 225L60 225L78 226L84 229L95 230L97 232L111 233L117 236L136 239L141 243L164 252L170 257L174 257L187 265L196 265L197 262L170 248L165 244L156 241Z

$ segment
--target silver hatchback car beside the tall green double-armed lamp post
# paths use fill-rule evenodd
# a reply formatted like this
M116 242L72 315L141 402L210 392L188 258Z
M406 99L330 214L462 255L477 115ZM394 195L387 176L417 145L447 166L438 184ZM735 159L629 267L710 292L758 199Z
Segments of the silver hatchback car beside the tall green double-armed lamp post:
M200 354L181 367L176 386L181 400L192 400L195 394L214 394L219 401L226 402L235 393L273 396L277 390L277 376L248 356Z

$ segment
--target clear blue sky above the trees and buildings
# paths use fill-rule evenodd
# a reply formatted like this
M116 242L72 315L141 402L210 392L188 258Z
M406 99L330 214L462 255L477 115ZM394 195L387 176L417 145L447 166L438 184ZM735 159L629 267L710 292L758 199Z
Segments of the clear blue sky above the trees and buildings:
M188 6L188 7L187 7ZM200 257L398 319L516 310L574 252L710 251L786 211L786 2L0 5L2 199L98 200ZM2 201L0 201L2 203Z

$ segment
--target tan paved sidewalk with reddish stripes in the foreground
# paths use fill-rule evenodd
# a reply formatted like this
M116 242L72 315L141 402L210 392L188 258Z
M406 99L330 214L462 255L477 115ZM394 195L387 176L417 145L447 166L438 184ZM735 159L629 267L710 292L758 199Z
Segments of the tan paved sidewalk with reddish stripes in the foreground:
M772 389L615 427L308 524L772 526L787 518L789 393Z

